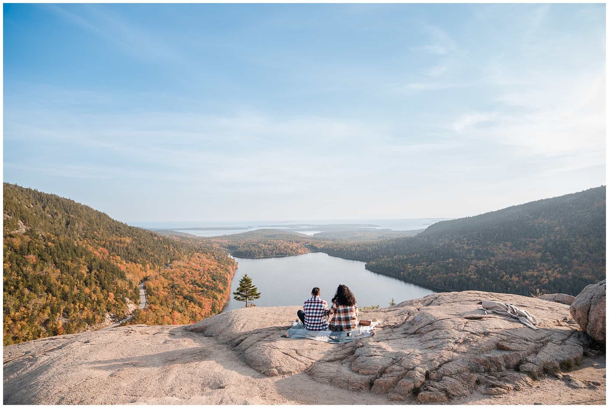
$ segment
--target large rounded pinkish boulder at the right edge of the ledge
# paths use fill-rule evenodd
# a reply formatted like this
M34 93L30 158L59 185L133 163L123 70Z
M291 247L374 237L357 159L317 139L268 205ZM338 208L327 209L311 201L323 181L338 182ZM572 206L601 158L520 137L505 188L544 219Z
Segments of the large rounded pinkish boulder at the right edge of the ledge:
M605 343L606 336L607 289L605 281L583 288L582 293L577 295L569 307L569 313L580 328L599 343Z

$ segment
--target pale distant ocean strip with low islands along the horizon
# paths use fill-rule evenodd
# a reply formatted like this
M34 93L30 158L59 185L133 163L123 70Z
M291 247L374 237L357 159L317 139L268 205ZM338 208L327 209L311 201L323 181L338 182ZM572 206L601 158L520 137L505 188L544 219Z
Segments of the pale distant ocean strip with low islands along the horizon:
M403 218L403 219L348 219L348 220L263 220L263 221L180 221L180 222L132 222L128 223L140 228L158 228L180 231L197 236L217 236L225 234L239 234L247 231L260 230L261 228L283 229L289 227L264 227L264 225L323 225L323 224L374 224L375 229L389 229L393 231L421 230L436 222L449 220L450 218ZM217 227L218 230L186 230L185 228L210 228ZM233 228L231 228L233 227ZM308 227L307 227L308 228ZM303 234L317 233L323 228L315 228L316 231L304 230Z

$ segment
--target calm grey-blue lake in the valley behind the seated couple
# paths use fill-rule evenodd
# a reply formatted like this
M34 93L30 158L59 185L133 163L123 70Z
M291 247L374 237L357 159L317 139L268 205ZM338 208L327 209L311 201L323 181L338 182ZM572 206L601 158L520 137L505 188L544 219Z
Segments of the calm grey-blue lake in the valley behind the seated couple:
M262 296L254 301L256 306L289 306L302 304L311 297L315 286L322 290L322 299L330 304L336 287L345 284L355 295L358 306L379 304L389 306L391 298L396 303L420 298L433 290L412 283L380 275L365 269L364 262L337 258L315 252L283 258L247 259L235 257L239 267L231 283L231 298L225 311L242 308L243 302L233 299L232 292L239 286L245 273L258 286Z

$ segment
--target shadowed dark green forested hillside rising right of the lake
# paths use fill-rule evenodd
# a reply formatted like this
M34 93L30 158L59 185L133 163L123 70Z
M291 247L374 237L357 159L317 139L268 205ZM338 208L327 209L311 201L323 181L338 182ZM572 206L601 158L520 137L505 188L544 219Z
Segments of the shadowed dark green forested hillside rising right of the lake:
M605 186L435 223L415 237L312 250L445 290L577 295L605 278Z

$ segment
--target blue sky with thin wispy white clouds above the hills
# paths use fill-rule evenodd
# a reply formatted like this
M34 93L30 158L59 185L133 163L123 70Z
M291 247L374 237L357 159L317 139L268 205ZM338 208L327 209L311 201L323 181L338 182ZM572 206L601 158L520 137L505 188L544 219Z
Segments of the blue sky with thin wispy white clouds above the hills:
M605 185L604 4L4 4L5 182L124 222Z

